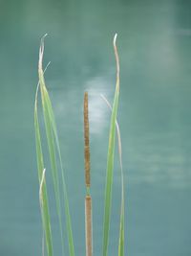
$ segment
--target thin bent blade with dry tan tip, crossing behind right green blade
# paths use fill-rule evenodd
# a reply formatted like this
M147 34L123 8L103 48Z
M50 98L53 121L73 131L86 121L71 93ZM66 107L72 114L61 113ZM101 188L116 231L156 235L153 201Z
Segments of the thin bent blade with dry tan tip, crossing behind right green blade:
M101 95L101 98L106 102L106 104L112 110L112 106L108 100ZM121 206L120 206L120 227L119 227L119 239L118 239L118 256L124 256L124 178L123 178L123 168L122 168L122 147L121 147L121 137L120 129L116 121L117 127L117 141L118 141L118 155L119 155L119 165L120 165L120 176L121 176Z

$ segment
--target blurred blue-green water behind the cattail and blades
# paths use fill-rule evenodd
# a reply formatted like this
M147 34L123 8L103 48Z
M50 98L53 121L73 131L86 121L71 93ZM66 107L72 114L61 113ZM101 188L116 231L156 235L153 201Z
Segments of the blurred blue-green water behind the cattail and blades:
M125 255L191 255L191 3L0 0L0 255L42 255L33 104L40 38L64 159L76 255L85 255L83 93L89 91L94 250L101 255L110 110L120 57ZM44 127L42 126L44 130ZM47 175L49 176L49 162ZM120 207L114 172L109 255ZM51 186L51 184L50 184ZM50 195L53 201L52 194ZM60 255L51 203L53 244Z

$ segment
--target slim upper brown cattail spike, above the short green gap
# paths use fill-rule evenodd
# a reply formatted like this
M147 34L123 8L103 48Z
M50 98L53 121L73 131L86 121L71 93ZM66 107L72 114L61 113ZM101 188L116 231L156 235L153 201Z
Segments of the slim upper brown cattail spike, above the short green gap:
M84 93L84 144L85 182L86 187L90 187L90 142L87 92Z

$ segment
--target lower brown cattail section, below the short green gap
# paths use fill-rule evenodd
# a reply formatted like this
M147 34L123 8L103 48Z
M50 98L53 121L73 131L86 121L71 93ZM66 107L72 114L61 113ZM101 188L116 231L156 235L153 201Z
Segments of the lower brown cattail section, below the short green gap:
M92 198L86 196L85 198L85 223L86 223L86 256L93 255L92 242Z

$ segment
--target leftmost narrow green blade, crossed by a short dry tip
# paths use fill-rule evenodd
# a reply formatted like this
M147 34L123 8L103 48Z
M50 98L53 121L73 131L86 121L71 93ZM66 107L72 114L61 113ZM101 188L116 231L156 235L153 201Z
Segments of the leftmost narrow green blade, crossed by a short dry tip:
M37 114L37 92L35 97L35 105L34 105L34 130L35 130L35 144L36 144L36 156L37 156L37 169L38 169L38 179L39 184L41 183L43 170L44 170L44 160L41 146L41 136L40 136L40 128L38 122L38 114ZM40 190L41 194L41 217L43 222L43 231L45 234L46 247L48 256L53 256L53 240L52 240L52 229L51 229L51 219L50 219L50 211L49 211L49 202L47 196L47 188L46 182L43 182L43 185Z

